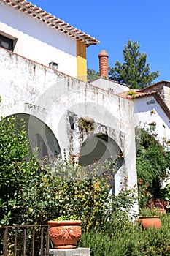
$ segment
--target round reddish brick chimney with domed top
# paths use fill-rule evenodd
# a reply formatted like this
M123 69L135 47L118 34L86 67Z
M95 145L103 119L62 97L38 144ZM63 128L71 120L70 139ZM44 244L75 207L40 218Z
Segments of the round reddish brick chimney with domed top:
M100 76L108 79L109 54L107 53L106 50L101 50L101 52L98 54L98 58L99 58Z

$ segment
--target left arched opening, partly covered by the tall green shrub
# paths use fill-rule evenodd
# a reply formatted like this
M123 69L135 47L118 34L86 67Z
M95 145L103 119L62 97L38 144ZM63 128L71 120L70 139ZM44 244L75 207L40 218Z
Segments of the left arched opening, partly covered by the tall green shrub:
M37 152L39 159L51 159L55 155L61 154L58 140L52 130L35 116L24 113L14 114L17 120L21 118L26 124L26 133L31 145L31 151Z

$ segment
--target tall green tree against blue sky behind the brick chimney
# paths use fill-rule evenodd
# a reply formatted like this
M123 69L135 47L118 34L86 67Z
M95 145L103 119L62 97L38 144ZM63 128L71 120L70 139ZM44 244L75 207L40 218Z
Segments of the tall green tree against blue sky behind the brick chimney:
M109 79L129 86L131 89L142 89L149 86L159 72L150 72L150 64L147 64L147 54L139 52L139 43L131 42L124 46L124 62L115 62L115 67L109 67Z

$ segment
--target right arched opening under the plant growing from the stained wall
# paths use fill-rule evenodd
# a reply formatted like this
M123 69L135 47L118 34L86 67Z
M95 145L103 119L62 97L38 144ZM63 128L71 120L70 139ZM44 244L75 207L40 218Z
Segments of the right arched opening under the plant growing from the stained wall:
M79 163L88 167L96 163L101 169L98 175L107 174L109 167L102 165L105 160L115 163L112 165L112 174L109 174L109 184L112 187L112 193L115 194L115 173L123 164L123 154L115 140L108 135L91 135L83 143L80 149ZM95 165L93 165L95 166Z

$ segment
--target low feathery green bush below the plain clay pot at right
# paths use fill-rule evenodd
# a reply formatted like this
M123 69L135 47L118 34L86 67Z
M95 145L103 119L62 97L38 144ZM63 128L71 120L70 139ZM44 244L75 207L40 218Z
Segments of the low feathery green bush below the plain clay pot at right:
M122 213L123 214L123 213ZM168 256L170 255L170 219L161 217L160 229L142 228L126 218L117 216L108 225L111 230L90 230L82 233L78 246L89 247L91 256Z

